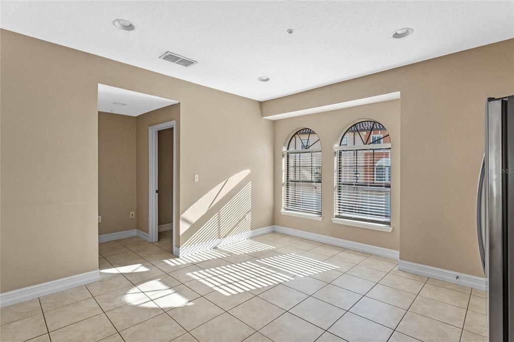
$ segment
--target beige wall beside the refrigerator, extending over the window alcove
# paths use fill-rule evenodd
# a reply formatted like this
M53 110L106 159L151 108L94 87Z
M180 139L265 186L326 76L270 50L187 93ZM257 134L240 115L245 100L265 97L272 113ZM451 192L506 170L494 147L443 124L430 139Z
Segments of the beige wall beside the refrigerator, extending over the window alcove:
M514 40L266 101L261 109L266 117L394 91L401 91L400 259L483 276L475 199L484 107L487 97L514 93Z

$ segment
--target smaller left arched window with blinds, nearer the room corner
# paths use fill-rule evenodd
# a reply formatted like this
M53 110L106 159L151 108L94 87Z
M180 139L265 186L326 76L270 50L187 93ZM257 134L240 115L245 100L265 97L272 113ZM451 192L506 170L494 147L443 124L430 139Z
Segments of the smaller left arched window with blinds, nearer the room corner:
M302 128L285 146L283 213L321 217L321 143L318 135Z

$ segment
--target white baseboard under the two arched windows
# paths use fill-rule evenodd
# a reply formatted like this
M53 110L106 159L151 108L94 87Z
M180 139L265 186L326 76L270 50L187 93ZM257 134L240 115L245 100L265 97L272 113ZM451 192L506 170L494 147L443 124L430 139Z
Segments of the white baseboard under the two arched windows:
M321 234L316 234L316 233L304 232L304 231L300 231L298 229L282 227L280 225L274 225L273 231L282 233L282 234L301 237L301 238L309 239L309 240L313 240L313 241L332 244L334 246L349 248L349 249L364 252L364 253L375 254L375 255L383 256L383 257L394 259L394 260L399 259L398 251L374 246L371 244L365 244L365 243L360 243L360 242L355 242L355 241L350 241L350 240L344 240L344 239L340 239L340 238L336 238L336 237L332 237L332 236L321 235Z

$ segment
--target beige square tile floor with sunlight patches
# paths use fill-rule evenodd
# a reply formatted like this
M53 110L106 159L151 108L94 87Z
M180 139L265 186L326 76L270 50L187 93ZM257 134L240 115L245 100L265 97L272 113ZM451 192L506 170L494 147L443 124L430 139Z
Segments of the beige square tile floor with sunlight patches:
M486 341L485 293L270 233L176 258L99 245L101 280L2 308L2 341Z

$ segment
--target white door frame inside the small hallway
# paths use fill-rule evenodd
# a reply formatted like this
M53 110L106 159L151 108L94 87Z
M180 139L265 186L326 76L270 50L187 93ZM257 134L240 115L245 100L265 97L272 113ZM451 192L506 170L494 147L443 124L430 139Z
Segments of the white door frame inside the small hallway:
M176 196L175 196L175 167L176 163L176 131L175 131L175 121L168 121L158 125L148 127L148 165L149 165L149 174L148 178L150 180L149 183L149 210L148 210L148 238L150 242L156 242L158 240L158 194L155 192L158 189L158 155L157 155L157 134L159 130L173 128L173 250L176 250L175 247L175 207L176 207Z

